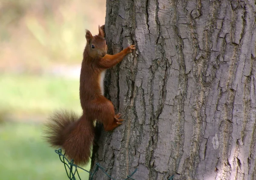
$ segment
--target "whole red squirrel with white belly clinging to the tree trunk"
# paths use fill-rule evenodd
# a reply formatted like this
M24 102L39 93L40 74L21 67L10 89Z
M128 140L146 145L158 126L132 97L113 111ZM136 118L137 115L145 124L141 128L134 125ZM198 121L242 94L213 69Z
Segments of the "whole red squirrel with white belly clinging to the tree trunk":
M66 156L77 165L90 160L94 138L94 121L103 123L105 131L111 131L122 124L121 114L115 114L114 106L104 97L103 80L105 70L117 63L135 49L131 45L121 52L107 54L104 25L99 26L99 34L92 36L86 30L87 44L84 49L80 74L81 117L67 111L59 111L46 124L45 137L53 147L61 147Z

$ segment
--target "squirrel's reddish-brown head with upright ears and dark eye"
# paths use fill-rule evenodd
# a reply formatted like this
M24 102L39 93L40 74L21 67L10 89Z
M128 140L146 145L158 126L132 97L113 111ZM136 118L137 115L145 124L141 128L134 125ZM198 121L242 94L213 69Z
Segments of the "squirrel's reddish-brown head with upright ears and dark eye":
M103 57L106 55L108 46L104 38L105 34L99 26L99 34L93 36L90 31L86 30L86 49L90 57Z

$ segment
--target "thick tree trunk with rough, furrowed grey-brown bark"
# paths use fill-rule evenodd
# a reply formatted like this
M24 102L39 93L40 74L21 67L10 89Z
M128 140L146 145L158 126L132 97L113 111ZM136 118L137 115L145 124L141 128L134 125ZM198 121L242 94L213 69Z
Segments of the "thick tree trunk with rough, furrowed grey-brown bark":
M256 179L256 2L107 0L106 96L124 124L94 146L117 180ZM98 172L94 178L108 177Z

